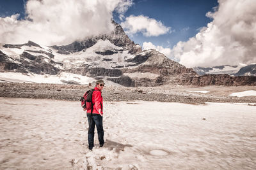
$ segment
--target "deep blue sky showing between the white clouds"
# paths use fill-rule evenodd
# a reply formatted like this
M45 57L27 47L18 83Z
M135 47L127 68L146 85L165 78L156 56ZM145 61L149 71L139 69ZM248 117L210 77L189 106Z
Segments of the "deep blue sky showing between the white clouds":
M7 17L15 13L24 18L25 0L0 1L0 16ZM172 48L179 41L187 41L199 32L200 27L205 27L211 19L205 17L208 11L218 6L217 0L136 0L132 6L124 13L125 17L130 15L144 15L161 21L166 27L172 27L171 33L159 36L143 36L141 32L129 35L134 43L141 46L143 42L152 42L154 45ZM113 18L119 24L122 22L118 18L118 13L114 11Z

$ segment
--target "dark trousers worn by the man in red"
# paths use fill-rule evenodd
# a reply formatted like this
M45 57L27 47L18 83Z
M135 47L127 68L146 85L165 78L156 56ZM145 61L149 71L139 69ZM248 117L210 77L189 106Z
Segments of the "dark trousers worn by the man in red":
M104 131L103 131L103 125L102 125L102 116L99 114L90 114L87 113L88 123L89 123L89 129L88 129L88 144L89 148L92 148L93 141L94 141L94 129L95 125L97 127L98 132L98 139L100 144L104 144Z

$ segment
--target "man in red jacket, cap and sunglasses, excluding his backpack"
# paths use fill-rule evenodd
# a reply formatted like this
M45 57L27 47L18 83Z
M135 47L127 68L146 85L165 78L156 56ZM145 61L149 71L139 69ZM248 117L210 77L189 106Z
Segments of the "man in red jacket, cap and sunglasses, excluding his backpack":
M102 116L103 116L103 98L101 96L101 91L104 88L104 81L97 80L96 87L94 88L92 94L92 103L93 103L93 111L87 110L87 118L88 118L88 145L89 149L92 150L93 148L93 141L94 141L94 129L95 125L97 127L98 132L98 139L100 143L100 147L104 145L104 130L102 125ZM91 114L92 111L92 114Z

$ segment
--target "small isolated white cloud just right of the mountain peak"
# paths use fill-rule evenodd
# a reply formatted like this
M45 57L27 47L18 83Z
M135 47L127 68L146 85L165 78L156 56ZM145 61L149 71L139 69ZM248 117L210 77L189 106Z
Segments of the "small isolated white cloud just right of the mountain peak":
M131 15L125 18L121 25L127 34L142 32L144 36L159 36L172 32L171 27L166 27L161 21L145 17L144 15Z

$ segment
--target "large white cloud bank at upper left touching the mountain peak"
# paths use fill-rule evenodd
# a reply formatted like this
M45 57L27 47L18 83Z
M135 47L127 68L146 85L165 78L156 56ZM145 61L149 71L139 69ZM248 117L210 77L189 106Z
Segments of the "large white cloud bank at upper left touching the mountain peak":
M113 30L112 13L124 13L131 0L29 0L28 17L0 17L0 43L64 45Z

